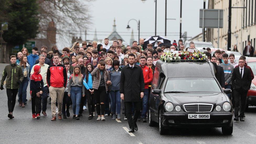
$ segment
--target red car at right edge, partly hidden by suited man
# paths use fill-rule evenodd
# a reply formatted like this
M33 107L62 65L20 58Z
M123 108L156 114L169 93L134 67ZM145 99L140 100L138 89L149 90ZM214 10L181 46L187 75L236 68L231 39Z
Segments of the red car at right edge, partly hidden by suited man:
M250 90L247 93L246 99L246 110L248 110L248 106L256 106L256 57L248 57L246 58L247 65L252 68L254 79L252 80L252 84Z

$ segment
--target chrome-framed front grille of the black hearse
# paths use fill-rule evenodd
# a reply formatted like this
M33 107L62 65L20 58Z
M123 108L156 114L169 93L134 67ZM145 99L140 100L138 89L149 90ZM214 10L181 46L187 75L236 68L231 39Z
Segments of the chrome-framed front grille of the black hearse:
M209 113L212 111L213 104L194 103L183 104L183 106L188 113Z

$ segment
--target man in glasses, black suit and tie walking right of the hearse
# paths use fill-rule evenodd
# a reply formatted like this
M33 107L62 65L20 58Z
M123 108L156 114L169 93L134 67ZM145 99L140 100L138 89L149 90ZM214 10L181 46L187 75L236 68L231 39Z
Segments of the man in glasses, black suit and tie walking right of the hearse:
M247 92L250 89L252 83L252 77L250 75L249 68L244 67L245 60L244 58L239 58L239 67L234 68L233 75L231 78L232 87L234 88L234 97L235 97L235 121L238 120L238 111L239 111L239 100L241 99L241 111L240 115L244 115L244 110L246 106L246 96ZM244 121L244 118L241 116L240 121Z

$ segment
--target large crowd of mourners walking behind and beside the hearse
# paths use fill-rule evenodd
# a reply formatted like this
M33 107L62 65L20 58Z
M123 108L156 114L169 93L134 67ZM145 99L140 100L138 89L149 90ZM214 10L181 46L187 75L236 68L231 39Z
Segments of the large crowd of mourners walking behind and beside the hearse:
M190 42L189 48L195 49L193 42ZM87 44L84 41L82 47L79 47L79 42L74 42L71 48L63 48L62 53L54 45L48 53L47 46L41 46L40 52L37 47L33 47L32 53L28 55L28 50L24 47L17 56L10 56L10 65L3 71L0 89L4 89L6 80L8 117L14 118L17 94L19 106L25 107L26 89L30 83L33 119L40 119L41 113L47 116L49 97L51 121L70 117L69 108L72 105L73 119L79 120L87 108L89 120L96 116L95 112L97 120L105 121L105 116L121 120L122 112L125 115L124 119L128 120L129 132L138 130L136 121L147 122L148 98L154 67L165 49L188 50L185 49L182 39L178 44L174 41L171 46L153 47L152 44L145 46L143 38L139 43L133 41L131 46L123 45L121 39L109 45L108 38L104 39L104 44L97 44L96 41ZM233 54L227 55L225 51L216 50L212 56L211 49L206 50L205 54L213 63L216 78L223 89L236 88L233 81L234 72L236 67L241 67L242 64L245 67L244 73L249 71L249 76L253 79L252 71L244 63L245 57L241 57L243 63L240 59L239 63L236 63ZM232 94L236 102L236 118L239 106L239 99L236 98L238 91ZM244 103L242 96L241 102ZM244 105L241 107L240 117L244 120Z

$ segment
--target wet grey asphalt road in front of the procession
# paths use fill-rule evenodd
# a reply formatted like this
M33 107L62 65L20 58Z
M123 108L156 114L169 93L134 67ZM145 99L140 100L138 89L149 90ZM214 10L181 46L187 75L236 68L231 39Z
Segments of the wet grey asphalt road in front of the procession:
M0 64L0 73L4 65ZM1 74L2 76L2 74ZM1 77L0 76L0 77ZM29 87L27 89L29 100ZM0 143L256 143L256 107L249 106L244 122L234 122L232 135L222 135L221 128L183 127L169 129L168 134L159 135L158 127L148 122L137 122L138 131L128 133L128 122L121 114L121 121L105 116L106 121L88 120L84 110L80 120L71 117L51 121L51 107L47 104L48 116L32 119L31 102L22 108L16 102L14 119L7 117L6 89L0 90Z

